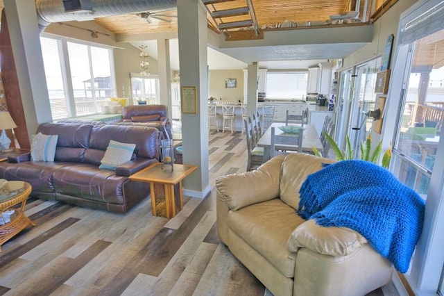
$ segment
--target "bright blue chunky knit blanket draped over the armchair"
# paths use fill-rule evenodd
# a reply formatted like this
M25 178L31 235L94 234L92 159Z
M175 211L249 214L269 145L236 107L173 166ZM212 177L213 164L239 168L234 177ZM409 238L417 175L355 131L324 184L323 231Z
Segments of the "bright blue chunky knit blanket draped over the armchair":
M407 272L425 204L391 172L368 161L339 161L310 174L299 192L298 215L361 233L396 270Z

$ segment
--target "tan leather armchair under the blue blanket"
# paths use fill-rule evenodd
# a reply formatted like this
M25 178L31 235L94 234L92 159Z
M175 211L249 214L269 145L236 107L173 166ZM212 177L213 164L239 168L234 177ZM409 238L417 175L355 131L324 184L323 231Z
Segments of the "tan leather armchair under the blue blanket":
M295 212L302 182L333 162L276 156L216 180L219 238L273 295L365 295L391 280L393 265L359 233Z

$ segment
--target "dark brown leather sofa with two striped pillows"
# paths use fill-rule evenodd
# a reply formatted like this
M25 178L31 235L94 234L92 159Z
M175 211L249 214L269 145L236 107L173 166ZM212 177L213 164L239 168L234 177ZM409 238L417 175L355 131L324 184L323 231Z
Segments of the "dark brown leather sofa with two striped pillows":
M31 183L32 197L124 213L150 194L149 183L128 176L159 159L160 132L148 126L44 123L37 133L58 135L54 162L0 163L0 177ZM99 169L110 140L134 143L133 159L117 170ZM11 160L14 161L14 160Z

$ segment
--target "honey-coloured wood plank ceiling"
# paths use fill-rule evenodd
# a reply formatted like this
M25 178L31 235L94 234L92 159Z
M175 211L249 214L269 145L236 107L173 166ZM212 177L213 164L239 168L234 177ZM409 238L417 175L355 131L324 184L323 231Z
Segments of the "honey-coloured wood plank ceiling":
M362 1L364 2L364 1ZM252 0L259 28L280 24L286 20L298 23L325 22L330 15L345 13L355 3L353 0ZM245 6L246 1L234 0L216 3L217 10ZM164 11L162 14L176 15L176 10ZM97 18L96 22L114 34L163 33L177 31L177 17L166 17L171 22L150 18L151 24L137 15L119 15ZM233 17L238 20L241 17ZM208 15L209 22L211 17Z

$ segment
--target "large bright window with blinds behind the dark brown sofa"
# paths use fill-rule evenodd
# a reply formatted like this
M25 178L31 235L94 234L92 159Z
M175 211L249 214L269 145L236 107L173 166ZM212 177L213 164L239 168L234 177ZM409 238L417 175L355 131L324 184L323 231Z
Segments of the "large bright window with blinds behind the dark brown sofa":
M101 113L115 93L112 49L41 37L53 120Z

